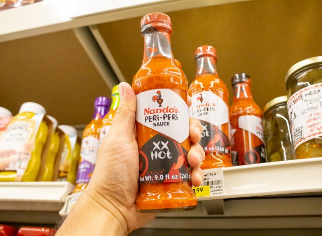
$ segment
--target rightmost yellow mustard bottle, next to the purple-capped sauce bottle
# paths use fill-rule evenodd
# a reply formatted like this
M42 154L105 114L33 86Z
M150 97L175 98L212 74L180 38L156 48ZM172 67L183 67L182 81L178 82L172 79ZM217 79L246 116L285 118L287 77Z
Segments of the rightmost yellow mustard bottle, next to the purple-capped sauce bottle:
M68 171L73 158L73 150L77 143L77 131L69 125L58 125L58 128L65 133L64 148L59 164L58 181L67 181Z

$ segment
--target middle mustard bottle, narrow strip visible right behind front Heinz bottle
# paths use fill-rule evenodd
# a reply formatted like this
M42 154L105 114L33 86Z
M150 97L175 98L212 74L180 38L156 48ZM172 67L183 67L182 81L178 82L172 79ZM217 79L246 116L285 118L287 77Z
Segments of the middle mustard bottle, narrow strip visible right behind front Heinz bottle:
M56 127L58 125L57 120L52 116L47 116L52 124L53 124L53 134L50 138L49 142L49 150L46 156L46 163L44 166L44 173L42 176L41 181L52 181L53 175L54 175L54 164L56 160L56 156L59 149L59 133L56 130Z

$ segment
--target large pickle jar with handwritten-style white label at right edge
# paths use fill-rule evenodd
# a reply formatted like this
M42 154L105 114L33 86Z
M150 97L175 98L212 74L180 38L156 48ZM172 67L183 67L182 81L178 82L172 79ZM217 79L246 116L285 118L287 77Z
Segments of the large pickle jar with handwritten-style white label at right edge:
M322 156L322 56L296 63L285 77L296 159Z

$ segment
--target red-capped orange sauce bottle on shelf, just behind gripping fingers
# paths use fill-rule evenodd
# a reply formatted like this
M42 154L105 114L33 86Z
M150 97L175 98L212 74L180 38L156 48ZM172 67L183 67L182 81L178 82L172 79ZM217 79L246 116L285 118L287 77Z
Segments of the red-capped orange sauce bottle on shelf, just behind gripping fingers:
M200 120L199 144L206 153L201 169L231 167L228 89L216 70L217 54L212 46L195 52L197 74L189 88L190 116Z

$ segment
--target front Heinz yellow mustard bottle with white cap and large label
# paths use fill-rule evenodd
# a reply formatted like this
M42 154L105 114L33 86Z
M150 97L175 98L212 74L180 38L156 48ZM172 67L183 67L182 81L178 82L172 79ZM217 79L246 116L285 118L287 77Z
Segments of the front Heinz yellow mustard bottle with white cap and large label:
M15 159L13 156L12 160L15 161L9 163L7 168L14 169L13 171L0 171L0 181L36 181L48 132L47 124L43 120L45 114L46 110L40 104L26 102L21 105L19 113L12 118L0 148L15 150L18 158ZM29 154L30 159L26 158ZM23 155L25 158L21 158Z

